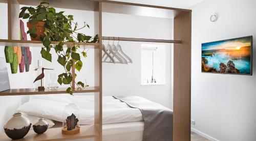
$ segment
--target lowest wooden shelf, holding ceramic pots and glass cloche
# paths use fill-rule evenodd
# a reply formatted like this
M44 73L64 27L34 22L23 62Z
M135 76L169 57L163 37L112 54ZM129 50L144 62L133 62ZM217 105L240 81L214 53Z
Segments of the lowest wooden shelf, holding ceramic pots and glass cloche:
M31 127L32 128L32 127ZM61 133L61 128L50 128L43 134L36 134L33 130L30 130L29 133L20 141L30 141L30 140L71 140L71 139L80 139L80 138L89 138L89 137L98 137L99 133L94 125L83 125L80 126L80 133L75 135L64 135ZM5 133L0 134L1 141L12 140Z

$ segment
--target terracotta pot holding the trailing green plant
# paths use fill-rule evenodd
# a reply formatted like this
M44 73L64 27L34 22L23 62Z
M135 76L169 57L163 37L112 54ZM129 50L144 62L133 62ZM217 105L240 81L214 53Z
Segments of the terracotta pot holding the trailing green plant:
M33 38L31 37L31 40L33 41L40 41L40 35L45 35L44 32L45 32L45 22L44 21L38 21L35 25L31 25L31 23L27 22L27 27L29 28L29 30L33 29L33 27L35 26L36 28L36 37Z

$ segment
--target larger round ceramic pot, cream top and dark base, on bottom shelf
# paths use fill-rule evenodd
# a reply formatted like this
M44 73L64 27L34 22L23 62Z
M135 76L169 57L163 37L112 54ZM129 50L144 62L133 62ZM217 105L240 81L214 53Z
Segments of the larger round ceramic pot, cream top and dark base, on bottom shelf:
M4 126L5 133L12 139L23 138L31 127L29 119L18 112L12 115Z

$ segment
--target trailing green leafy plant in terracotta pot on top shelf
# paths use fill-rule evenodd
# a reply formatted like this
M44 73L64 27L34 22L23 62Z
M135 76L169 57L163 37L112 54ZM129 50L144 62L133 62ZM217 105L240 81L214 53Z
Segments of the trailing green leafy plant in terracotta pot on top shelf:
M38 39L44 45L41 49L41 56L48 61L52 61L52 54L50 50L54 49L58 55L58 63L64 67L65 72L58 76L58 83L69 84L67 92L72 95L71 82L71 66L73 61L75 69L80 71L82 68L81 56L87 57L86 51L80 50L80 45L75 42L97 42L98 35L94 37L88 36L77 31L83 28L90 28L84 22L84 25L78 28L78 23L74 22L73 15L64 15L64 11L56 12L49 3L41 2L36 8L23 7L20 9L19 17L23 19L29 18L27 26L30 27L27 32L30 34L31 39ZM27 13L28 11L28 13ZM74 27L72 27L72 23ZM32 40L33 40L32 39ZM51 41L58 41L58 44L51 44ZM63 49L63 42L74 42L72 46ZM83 88L86 85L82 82L75 82L77 88Z

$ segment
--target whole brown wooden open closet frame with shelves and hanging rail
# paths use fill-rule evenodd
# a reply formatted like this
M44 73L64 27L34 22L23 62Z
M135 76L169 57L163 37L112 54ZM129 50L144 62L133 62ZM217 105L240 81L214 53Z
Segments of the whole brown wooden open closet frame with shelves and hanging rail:
M30 131L22 140L69 140L78 138L94 137L95 140L102 140L102 12L141 15L138 10L147 9L154 11L160 17L161 12L173 15L174 19L174 40L162 39L141 39L141 38L120 38L125 41L149 41L174 43L174 137L175 141L190 141L190 87L191 87L191 10L124 3L104 0L46 0L50 6L56 8L77 9L94 11L95 34L99 34L98 43L79 43L85 48L95 50L95 86L85 90L74 90L74 93L94 92L95 93L95 125L81 126L81 132L76 135L62 135L60 128L48 129L41 135ZM0 3L8 5L8 39L0 39L0 45L31 46L41 47L41 41L20 41L19 40L19 5L36 6L40 0L0 0ZM147 13L142 13L143 16ZM3 22L3 21L2 21ZM57 42L52 42L55 44ZM66 46L74 44L65 42ZM74 68L72 69L74 70ZM74 73L73 73L74 75ZM74 85L73 85L74 86ZM33 89L10 89L0 92L0 96L14 95L46 95L65 93L65 89L57 91L46 90L44 92ZM4 133L0 134L0 140L10 140Z

